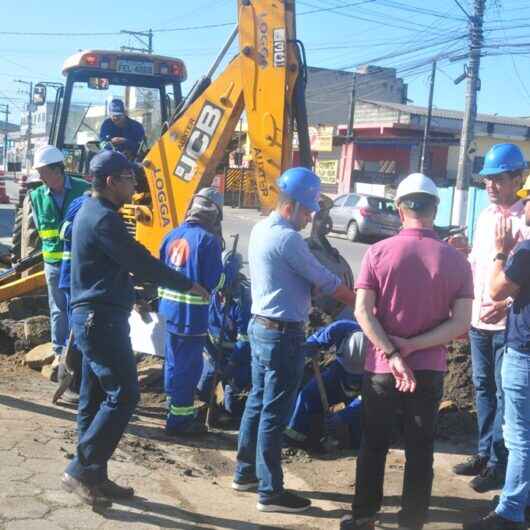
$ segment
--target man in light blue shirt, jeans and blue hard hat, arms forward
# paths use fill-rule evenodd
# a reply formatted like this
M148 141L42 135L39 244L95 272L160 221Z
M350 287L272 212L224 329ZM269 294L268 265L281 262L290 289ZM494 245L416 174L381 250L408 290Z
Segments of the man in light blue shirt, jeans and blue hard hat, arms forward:
M260 511L300 512L311 502L284 490L281 443L304 368L311 290L351 307L355 296L318 262L300 235L319 210L320 179L299 167L287 170L277 185L276 210L250 235L252 389L241 420L232 487L246 491L257 486Z

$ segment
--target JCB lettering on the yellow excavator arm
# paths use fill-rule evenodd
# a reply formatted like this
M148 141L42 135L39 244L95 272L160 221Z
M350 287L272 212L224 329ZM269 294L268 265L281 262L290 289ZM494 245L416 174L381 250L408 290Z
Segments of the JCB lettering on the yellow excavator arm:
M193 178L197 161L208 149L222 117L223 109L210 102L204 104L175 167L177 177L186 182Z

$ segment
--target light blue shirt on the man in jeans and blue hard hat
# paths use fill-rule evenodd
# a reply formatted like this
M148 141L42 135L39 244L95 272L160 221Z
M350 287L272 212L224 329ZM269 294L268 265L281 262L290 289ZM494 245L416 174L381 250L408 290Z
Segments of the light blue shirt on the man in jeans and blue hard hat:
M248 260L254 315L306 322L311 288L330 295L341 284L339 277L319 263L300 233L278 212L272 212L252 229Z

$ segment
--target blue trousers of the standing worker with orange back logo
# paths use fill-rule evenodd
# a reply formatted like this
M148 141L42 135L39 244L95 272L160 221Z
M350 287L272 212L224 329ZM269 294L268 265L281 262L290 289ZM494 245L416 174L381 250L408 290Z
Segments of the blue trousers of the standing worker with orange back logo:
M166 333L164 390L169 398L166 427L178 432L197 415L195 389L201 377L206 336Z

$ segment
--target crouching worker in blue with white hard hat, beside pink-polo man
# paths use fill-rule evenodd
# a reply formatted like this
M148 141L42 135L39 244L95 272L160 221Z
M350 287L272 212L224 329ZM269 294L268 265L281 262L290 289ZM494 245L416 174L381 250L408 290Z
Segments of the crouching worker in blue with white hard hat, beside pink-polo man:
M346 407L325 418L328 433L334 434L341 426L350 431L353 448L361 441L360 412L362 373L366 339L355 320L337 320L311 335L305 345L306 357L314 357L321 350L335 348L336 358L322 373L322 380L330 405L344 403ZM311 429L311 417L325 414L318 385L312 379L298 394L294 413L284 432L285 441L306 446Z

